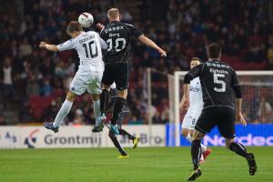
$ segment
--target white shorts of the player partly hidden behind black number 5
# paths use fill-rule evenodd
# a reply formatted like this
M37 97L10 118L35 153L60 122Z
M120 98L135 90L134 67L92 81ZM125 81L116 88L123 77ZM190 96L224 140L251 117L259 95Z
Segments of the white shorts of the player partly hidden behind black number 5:
M197 119L201 115L202 109L203 108L189 108L187 110L187 114L184 116L182 128L194 130L197 123Z

